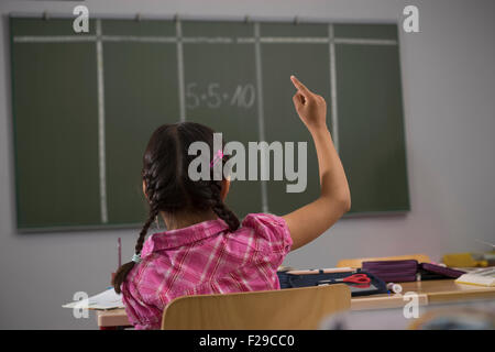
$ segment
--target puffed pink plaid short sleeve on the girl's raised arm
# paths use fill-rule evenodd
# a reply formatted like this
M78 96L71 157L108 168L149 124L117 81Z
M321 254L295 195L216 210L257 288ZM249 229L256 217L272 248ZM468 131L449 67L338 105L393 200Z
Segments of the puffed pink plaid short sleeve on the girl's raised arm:
M261 250L268 255L285 256L290 252L293 239L285 220L271 213L250 213L242 221L243 228L252 228L261 242Z

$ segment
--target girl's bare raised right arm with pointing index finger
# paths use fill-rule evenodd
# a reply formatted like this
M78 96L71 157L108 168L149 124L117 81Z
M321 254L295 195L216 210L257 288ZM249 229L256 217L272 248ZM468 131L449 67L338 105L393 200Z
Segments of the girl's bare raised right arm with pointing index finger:
M351 208L348 179L327 128L327 103L310 91L296 77L290 79L297 91L293 97L299 118L315 142L320 174L320 197L315 201L283 216L296 250L328 230Z

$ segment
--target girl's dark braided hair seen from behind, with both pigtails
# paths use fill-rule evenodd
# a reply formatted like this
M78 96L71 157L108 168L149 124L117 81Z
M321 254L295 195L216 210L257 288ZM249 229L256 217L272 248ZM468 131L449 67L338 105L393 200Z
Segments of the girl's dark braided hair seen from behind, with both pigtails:
M136 254L141 253L146 232L161 211L174 216L183 211L212 210L227 222L231 231L239 228L239 219L223 204L222 182L213 179L212 169L209 170L210 180L189 178L189 164L197 157L188 155L189 145L194 142L207 143L210 160L213 160L218 151L213 151L213 130L210 128L194 122L182 122L164 124L153 132L144 152L142 169L150 211L138 238ZM222 163L224 162L222 158ZM134 262L129 262L117 271L113 279L117 293L121 292L120 286L133 266Z

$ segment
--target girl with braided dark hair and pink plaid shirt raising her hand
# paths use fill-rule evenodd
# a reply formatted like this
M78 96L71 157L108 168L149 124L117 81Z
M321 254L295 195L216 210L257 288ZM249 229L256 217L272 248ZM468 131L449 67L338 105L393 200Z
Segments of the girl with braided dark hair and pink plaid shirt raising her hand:
M315 141L321 194L283 217L251 213L241 227L223 202L228 179L188 177L188 165L196 157L187 153L190 143L208 143L215 163L209 128L185 122L153 133L142 172L150 216L132 261L119 268L113 283L136 329L158 329L165 306L179 296L279 289L276 271L285 255L319 237L350 209L348 182L327 128L324 99L296 77L290 79L297 89L294 106ZM144 242L158 216L167 231Z

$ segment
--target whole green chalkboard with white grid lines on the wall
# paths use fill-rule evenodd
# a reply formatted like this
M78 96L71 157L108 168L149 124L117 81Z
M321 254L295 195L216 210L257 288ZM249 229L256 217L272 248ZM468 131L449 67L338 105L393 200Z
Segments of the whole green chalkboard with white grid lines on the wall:
M283 215L316 199L315 147L290 75L327 98L354 213L409 209L397 26L11 18L20 230L136 226L152 131L195 121L224 142L306 143L307 182L234 180L228 205ZM274 145L274 144L272 144ZM283 153L287 153L287 148ZM246 154L248 156L248 154ZM285 164L285 161L284 161ZM299 180L301 182L301 180ZM302 183L305 184L305 183Z

